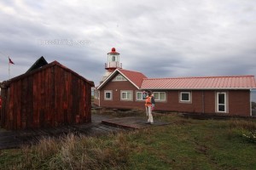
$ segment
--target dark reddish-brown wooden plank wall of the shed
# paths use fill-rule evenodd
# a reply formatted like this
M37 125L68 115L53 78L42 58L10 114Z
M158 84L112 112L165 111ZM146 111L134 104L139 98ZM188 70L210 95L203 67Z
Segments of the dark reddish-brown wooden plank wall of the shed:
M2 88L1 127L26 129L90 122L91 85L59 65Z

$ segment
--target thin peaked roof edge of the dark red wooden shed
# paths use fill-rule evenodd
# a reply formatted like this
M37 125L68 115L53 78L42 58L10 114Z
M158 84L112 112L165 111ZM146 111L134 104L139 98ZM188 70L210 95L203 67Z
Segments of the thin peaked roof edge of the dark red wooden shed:
M64 65L61 65L61 64L60 64L59 62L57 62L57 61L53 61L53 62L49 63L48 65L42 66L42 67L39 68L39 69L35 69L35 70L32 70L32 71L26 71L26 73L24 73L24 74L22 74L22 75L20 75L20 76L18 76L18 77L14 77L14 78L12 78L12 79L9 79L8 81L4 81L4 82L1 83L1 87L2 87L2 86L9 86L9 84L12 83L12 82L19 81L19 80L22 79L22 78L31 76L31 75L33 75L33 74L39 72L39 71L44 71L45 69L48 69L49 67L53 67L53 66L55 66L55 65L60 66L60 67L61 67L62 69L64 69L65 71L71 72L74 76L79 77L79 78L80 78L81 80L83 80L84 82L88 82L91 87L94 87L94 82L91 82L91 81L85 79L84 77L80 76L78 73L76 73L76 72L74 72L74 71L68 69L68 68L67 68L66 66L64 66Z

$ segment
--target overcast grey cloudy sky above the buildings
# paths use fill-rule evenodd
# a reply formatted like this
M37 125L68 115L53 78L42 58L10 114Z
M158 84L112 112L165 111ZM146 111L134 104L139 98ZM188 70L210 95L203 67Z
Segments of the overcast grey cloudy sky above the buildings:
M255 0L0 2L0 81L41 56L101 81L111 48L147 77L256 76Z

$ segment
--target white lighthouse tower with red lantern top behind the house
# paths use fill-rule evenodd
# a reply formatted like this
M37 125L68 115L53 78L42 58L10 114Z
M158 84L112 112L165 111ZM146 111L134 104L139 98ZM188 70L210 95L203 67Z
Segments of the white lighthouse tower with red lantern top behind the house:
M104 81L114 70L121 68L122 63L119 61L119 53L115 51L115 48L112 48L111 52L108 53L108 62L105 63L106 73L102 77L102 81Z

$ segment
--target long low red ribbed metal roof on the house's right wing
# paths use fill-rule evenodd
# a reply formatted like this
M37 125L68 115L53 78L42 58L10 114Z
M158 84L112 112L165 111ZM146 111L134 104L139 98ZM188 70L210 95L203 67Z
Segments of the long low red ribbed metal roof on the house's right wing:
M142 89L256 88L254 76L146 78Z

